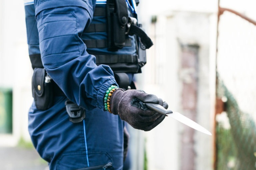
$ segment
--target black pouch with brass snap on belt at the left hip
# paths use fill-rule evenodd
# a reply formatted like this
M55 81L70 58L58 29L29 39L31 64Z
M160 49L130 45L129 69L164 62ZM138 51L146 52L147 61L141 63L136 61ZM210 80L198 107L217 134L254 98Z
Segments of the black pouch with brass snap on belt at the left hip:
M32 76L32 95L37 109L46 110L53 104L53 86L46 80L47 73L44 68L35 68Z

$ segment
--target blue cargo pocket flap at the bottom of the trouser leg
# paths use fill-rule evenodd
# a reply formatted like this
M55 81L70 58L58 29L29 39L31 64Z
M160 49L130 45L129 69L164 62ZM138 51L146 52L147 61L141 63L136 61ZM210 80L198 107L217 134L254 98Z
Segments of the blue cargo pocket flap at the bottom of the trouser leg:
M107 152L66 153L57 161L57 170L113 170L112 162Z

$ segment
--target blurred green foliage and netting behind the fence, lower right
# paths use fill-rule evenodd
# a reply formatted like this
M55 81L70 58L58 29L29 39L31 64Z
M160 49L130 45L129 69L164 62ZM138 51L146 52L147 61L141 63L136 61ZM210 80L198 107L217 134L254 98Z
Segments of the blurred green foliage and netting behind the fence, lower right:
M240 110L234 96L218 80L218 97L225 96L230 128L216 125L217 170L256 170L256 126L250 114ZM220 93L221 92L221 93Z

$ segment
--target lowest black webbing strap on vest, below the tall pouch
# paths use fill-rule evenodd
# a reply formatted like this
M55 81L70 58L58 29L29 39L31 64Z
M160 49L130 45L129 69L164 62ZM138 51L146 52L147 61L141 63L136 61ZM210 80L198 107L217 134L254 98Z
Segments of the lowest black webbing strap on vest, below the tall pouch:
M97 64L113 64L113 63L136 63L137 55L120 54L120 55L95 55Z

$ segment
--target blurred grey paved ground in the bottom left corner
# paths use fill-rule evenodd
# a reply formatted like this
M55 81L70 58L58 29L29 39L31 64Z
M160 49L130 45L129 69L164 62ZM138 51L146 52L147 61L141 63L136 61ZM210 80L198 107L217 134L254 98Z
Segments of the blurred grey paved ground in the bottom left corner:
M0 147L1 170L49 170L34 148Z

